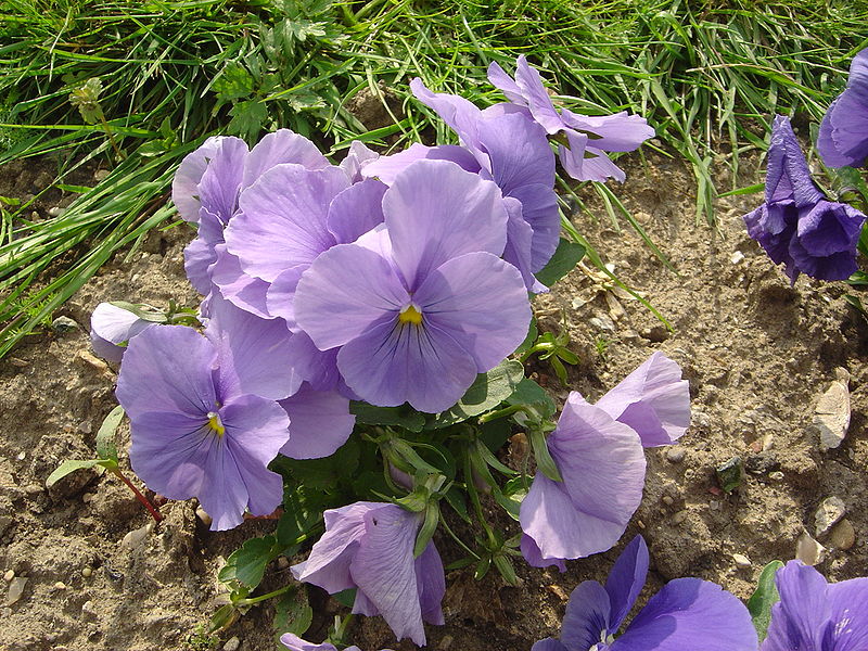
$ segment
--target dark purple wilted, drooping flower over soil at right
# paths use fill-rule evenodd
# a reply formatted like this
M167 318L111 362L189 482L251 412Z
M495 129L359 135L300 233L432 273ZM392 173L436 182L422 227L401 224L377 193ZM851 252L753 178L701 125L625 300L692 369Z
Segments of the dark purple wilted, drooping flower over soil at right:
M763 205L744 215L748 234L775 264L783 263L791 282L800 273L845 280L856 271L856 244L866 217L824 197L782 115L771 127L765 196Z

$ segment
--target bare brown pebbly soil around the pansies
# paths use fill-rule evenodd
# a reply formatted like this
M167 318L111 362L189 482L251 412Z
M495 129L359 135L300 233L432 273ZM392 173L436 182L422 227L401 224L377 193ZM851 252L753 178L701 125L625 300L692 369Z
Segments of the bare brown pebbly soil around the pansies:
M699 576L746 598L764 564L794 557L803 529L814 531L820 501L839 497L855 531L820 537L828 552L818 569L831 579L867 574L868 348L866 323L843 298L841 283L802 278L793 288L744 232L741 215L758 195L717 204L719 232L694 216L694 181L678 161L650 154L625 157L627 182L618 196L663 248L667 270L624 225L618 232L595 193L584 192L592 215L574 221L614 265L615 272L672 323L669 333L636 301L607 298L576 269L536 308L545 329L560 328L564 310L571 347L580 363L570 390L599 398L654 350L678 361L690 381L692 425L673 448L648 449L644 499L612 551L567 563L567 572L520 564L521 585L494 573L474 582L467 571L447 575L446 625L427 627L437 650L523 651L557 635L570 591L603 579L618 551L641 533L651 550L651 577L642 599L663 583ZM89 174L92 174L90 170ZM756 163L743 165L741 186L754 183ZM719 170L728 186L728 171ZM38 184L28 167L0 171L0 194L23 196ZM16 194L17 192L17 194ZM38 206L47 212L48 196ZM55 204L58 205L58 204ZM115 258L56 316L79 328L46 331L0 360L0 649L10 651L273 649L267 603L254 608L216 647L195 637L219 603L216 575L222 559L245 538L273 524L248 522L210 533L195 505L170 502L157 528L132 495L111 476L79 472L51 490L44 481L64 459L92 456L97 429L114 406L116 369L93 357L89 315L101 301L123 298L195 305L183 276L182 248L192 231L179 226L153 233L131 259ZM821 452L812 425L817 398L834 368L852 374L852 423L844 444ZM547 367L540 381L559 401L566 395ZM126 431L123 431L126 436ZM748 470L731 494L722 493L715 468L740 457ZM125 458L122 459L125 462ZM516 523L505 523L509 533ZM437 538L444 562L459 558ZM732 554L748 557L737 562ZM8 591L26 578L21 598ZM291 579L285 561L268 570L267 586ZM316 605L310 639L346 609L310 591ZM350 639L363 651L400 644L380 618L354 623ZM193 637L191 637L193 636ZM240 644L239 644L240 642Z

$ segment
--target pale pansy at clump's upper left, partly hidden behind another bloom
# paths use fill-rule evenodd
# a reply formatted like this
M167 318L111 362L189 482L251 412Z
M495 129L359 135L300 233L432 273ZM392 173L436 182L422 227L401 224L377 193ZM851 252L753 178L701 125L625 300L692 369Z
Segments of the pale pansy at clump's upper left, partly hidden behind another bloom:
M307 138L280 129L265 136L253 150L231 137L209 138L188 154L173 181L173 201L181 217L199 224L199 234L184 250L184 268L193 286L210 292L219 265L222 294L239 306L268 317L265 288L244 277L224 246L224 228L239 212L239 196L276 165L293 163L322 169L329 162Z

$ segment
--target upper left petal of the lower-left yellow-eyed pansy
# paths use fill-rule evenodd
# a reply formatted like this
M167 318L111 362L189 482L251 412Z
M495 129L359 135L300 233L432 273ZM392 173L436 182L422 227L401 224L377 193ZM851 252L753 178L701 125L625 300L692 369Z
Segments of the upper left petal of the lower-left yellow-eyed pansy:
M192 328L150 328L127 346L117 399L130 418L149 411L207 413L217 401L212 379L216 359L212 343Z

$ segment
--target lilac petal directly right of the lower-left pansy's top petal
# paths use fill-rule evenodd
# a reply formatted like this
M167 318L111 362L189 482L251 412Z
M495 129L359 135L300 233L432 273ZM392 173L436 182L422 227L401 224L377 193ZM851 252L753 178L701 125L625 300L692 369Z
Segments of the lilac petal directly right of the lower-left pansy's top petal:
M215 294L205 336L220 360L224 399L255 394L279 400L302 385L301 378L286 372L293 363L292 335L281 319L261 319Z

